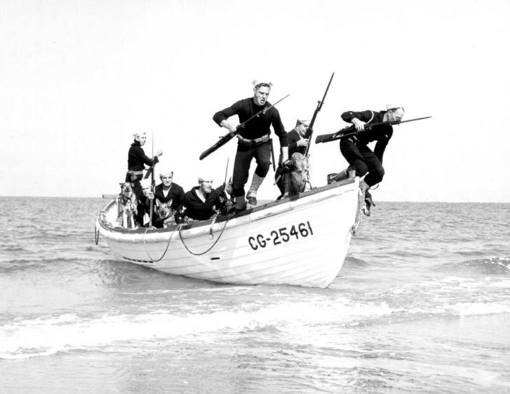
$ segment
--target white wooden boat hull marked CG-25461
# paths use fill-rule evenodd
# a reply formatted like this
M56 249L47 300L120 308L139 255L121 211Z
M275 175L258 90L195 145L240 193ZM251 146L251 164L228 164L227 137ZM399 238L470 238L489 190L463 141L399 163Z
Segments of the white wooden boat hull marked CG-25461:
M354 178L233 218L169 229L112 227L111 202L96 226L116 258L166 273L231 284L327 287L348 251L358 185Z

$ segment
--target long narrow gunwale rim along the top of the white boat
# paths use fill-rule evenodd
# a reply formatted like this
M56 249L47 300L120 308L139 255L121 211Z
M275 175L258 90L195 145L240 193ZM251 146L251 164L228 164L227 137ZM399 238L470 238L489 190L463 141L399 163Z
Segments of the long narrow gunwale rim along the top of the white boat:
M266 204L260 205L258 207L245 209L244 211L240 211L233 216L228 216L228 215L217 216L215 219L215 223L225 222L226 220L231 220L233 218L240 218L242 216L253 214L253 212L262 211L264 209L272 208L277 205L282 205L285 203L289 203L291 201L295 201L295 200L299 200L301 198L306 198L308 196L312 196L314 194L319 194L323 191L334 189L335 187L349 185L350 183L354 183L355 180L356 180L355 177L348 178L345 180L341 180L339 182L331 183L329 185L316 187L315 189L310 189L310 190L304 191L303 193L298 194L297 197L293 197L293 198L286 197L286 198L282 198L281 200L271 201L270 203L266 203ZM135 234L161 234L161 233L173 232L179 226L179 225L172 225L171 227L162 228L162 229L151 229L149 227L141 227L138 229L126 229L125 227L112 227L111 225L109 225L109 222L105 222L104 214L109 209L109 207L114 203L115 203L115 200L111 200L107 205L105 205L105 207L103 209L101 209L101 211L98 215L99 225L107 231L120 233L120 234L132 234L132 235L135 235ZM201 220L200 222L193 222L193 223L189 223L187 225L182 225L181 229L182 230L194 229L197 227L208 226L208 225L211 225L212 223L213 223L213 219L211 218L211 219L207 219L207 220Z

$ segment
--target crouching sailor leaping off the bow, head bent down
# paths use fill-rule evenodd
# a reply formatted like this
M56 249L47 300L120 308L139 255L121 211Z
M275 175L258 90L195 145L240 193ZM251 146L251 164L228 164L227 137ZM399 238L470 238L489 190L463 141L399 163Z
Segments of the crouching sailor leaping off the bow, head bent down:
M367 131L365 125L370 123L399 122L404 116L404 108L400 105L387 105L385 111L347 111L341 114L343 121L352 123L354 128L361 132L352 136L346 136L340 140L340 152L349 163L348 169L354 169L356 176L363 177L360 182L361 190L365 192L366 215L370 216L370 207L375 206L372 196L368 192L370 187L383 180L383 154L390 138L393 135L391 125L372 127ZM376 141L374 151L368 147L368 143ZM345 175L348 169L344 169L341 175Z

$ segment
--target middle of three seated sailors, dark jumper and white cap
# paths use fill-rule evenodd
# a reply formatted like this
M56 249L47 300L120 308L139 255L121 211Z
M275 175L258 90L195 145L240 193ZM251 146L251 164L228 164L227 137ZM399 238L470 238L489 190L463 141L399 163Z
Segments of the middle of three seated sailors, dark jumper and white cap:
M213 189L213 178L201 176L198 178L198 186L184 194L176 220L178 223L207 220L216 214L220 204L219 194Z

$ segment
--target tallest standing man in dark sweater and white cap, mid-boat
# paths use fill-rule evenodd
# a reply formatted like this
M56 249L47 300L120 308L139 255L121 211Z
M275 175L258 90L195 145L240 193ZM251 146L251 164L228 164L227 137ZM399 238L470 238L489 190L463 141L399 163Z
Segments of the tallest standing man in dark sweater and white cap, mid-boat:
M267 80L253 81L253 97L244 98L237 101L230 107L216 112L213 121L229 129L230 132L236 132L236 127L227 119L233 115L239 116L240 123L243 123L251 116L264 110L270 104L267 101L271 91L270 83ZM279 112L275 107L270 108L264 114L246 123L241 132L237 134L237 152L233 169L233 194L235 196L235 209L246 209L246 200L249 207L257 205L257 191L266 177L271 163L271 143L270 126L273 126L275 134L279 138L282 160L288 160L288 138L284 125L281 123ZM257 168L253 174L250 189L245 198L244 185L248 181L251 161L255 158Z

